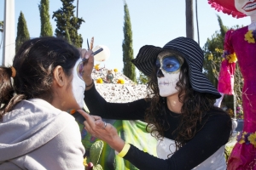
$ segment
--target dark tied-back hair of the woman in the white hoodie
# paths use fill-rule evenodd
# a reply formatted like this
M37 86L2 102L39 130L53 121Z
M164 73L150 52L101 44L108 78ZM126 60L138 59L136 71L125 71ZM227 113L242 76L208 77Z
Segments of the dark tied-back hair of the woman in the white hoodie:
M10 67L0 66L0 120L22 99L52 99L53 71L57 65L70 77L79 50L57 37L38 37L24 42Z

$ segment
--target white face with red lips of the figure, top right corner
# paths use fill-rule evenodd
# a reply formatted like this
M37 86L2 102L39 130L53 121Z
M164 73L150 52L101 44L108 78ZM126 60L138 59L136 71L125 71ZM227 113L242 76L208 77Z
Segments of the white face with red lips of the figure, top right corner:
M235 0L235 7L247 16L256 14L256 0Z

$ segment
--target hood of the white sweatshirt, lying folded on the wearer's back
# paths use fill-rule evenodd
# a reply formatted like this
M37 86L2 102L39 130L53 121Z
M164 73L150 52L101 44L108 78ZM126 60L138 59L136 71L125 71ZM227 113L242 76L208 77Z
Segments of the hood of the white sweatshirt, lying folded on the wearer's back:
M70 119L73 116L43 99L20 101L0 122L0 164L46 144L67 127Z

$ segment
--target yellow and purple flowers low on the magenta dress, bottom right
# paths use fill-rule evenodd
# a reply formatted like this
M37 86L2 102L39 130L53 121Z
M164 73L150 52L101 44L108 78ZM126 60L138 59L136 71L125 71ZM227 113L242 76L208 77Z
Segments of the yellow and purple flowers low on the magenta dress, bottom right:
M253 144L253 146L256 148L256 132L255 133L240 132L236 136L236 140L239 144Z

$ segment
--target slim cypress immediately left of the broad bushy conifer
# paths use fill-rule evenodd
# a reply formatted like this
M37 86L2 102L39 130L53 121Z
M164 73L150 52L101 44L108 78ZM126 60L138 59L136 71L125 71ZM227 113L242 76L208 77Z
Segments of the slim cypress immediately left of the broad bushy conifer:
M49 22L49 0L41 0L38 8L41 19L40 37L51 37L53 35L53 31Z

